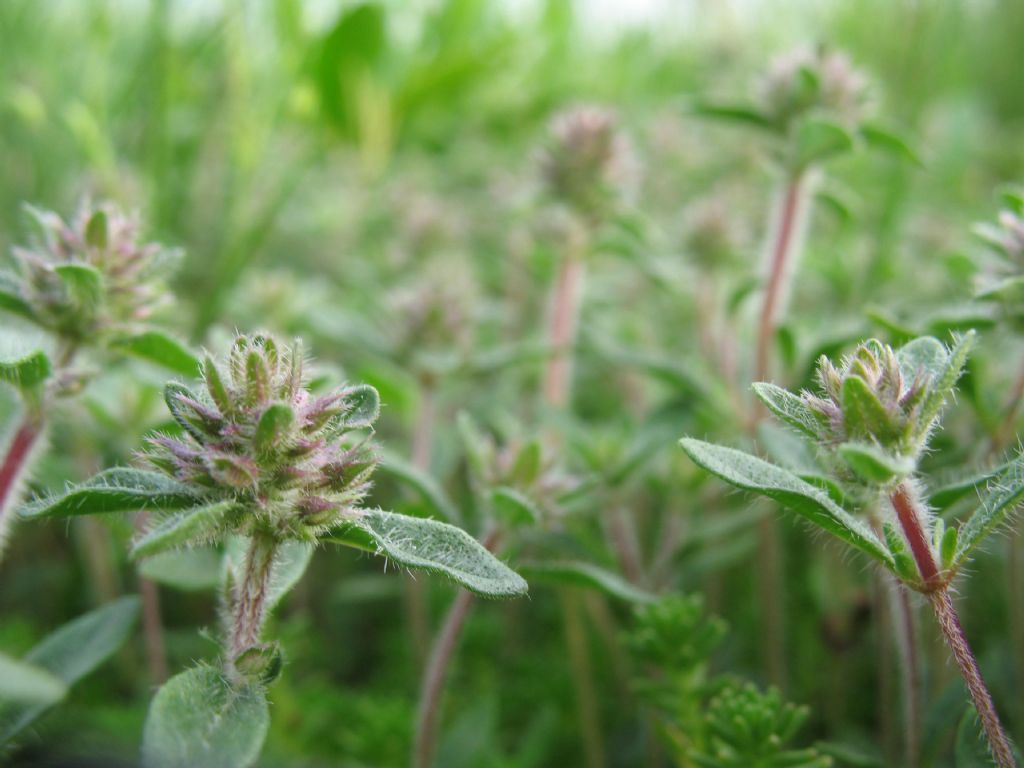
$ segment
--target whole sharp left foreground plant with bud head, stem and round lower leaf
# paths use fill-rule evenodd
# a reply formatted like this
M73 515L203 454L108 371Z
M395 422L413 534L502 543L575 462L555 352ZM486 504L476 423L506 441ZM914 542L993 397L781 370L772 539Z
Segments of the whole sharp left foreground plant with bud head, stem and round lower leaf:
M221 657L169 680L143 737L147 766L254 763L266 734L266 686L280 644L264 639L272 607L319 544L375 552L442 573L476 594L513 597L526 584L472 537L446 523L364 506L376 468L377 391L313 394L301 343L239 336L223 364L207 356L202 390L167 385L178 434L150 438L136 468L110 469L27 504L27 518L150 510L133 558L182 547L225 547Z

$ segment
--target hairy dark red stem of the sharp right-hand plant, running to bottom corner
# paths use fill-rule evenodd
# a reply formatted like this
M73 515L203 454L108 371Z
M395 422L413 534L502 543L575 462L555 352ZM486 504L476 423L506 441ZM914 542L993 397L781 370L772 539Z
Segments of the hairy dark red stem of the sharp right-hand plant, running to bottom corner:
M930 589L927 592L928 599L935 611L939 629L942 630L946 644L956 659L964 682L967 683L975 710L981 718L995 764L998 768L1016 768L1017 762L1010 749L1010 740L1002 730L1002 724L999 723L999 716L995 712L992 696L981 677L981 670L971 651L971 646L968 645L967 636L964 634L959 616L956 614L956 608L953 607L952 598L949 597L949 589L941 581L935 556L925 534L925 527L922 523L923 515L918 508L914 494L906 482L901 482L891 494L890 501L896 511L896 517L903 529L903 535L910 545L910 551L918 564L922 581L926 589Z

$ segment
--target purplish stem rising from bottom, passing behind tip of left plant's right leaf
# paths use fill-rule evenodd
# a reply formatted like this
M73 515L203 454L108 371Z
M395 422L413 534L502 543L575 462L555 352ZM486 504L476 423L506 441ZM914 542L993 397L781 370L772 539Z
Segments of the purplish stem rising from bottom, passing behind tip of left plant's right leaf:
M494 552L500 540L500 532L493 530L483 538L481 544ZM466 616L469 615L469 608L472 604L473 593L468 590L460 590L452 607L449 608L444 624L441 626L441 631L434 640L433 648L430 651L430 659L423 671L420 703L416 716L416 741L413 744L414 768L430 768L433 760L434 746L437 741L437 716L441 692L444 690L444 679L447 677L452 656L459 644L462 628L466 624Z

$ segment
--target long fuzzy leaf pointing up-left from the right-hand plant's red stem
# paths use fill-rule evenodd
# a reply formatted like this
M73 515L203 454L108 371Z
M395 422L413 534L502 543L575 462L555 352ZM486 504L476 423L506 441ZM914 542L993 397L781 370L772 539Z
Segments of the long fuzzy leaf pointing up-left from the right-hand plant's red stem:
M889 568L892 557L870 529L828 495L781 467L735 449L684 437L683 451L700 467L736 487L761 494L788 507Z

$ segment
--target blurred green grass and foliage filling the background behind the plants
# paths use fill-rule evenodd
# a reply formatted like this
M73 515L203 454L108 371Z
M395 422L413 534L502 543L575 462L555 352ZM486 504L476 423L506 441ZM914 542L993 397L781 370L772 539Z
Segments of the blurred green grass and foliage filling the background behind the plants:
M711 297L737 334L736 379L749 380L746 299L774 175L757 140L687 105L745 96L773 54L827 44L868 73L879 113L922 158L858 153L829 167L781 336L786 383L800 386L817 353L861 336L984 322L969 306L978 267L968 232L991 217L996 186L1024 177L1021 40L1016 0L690 0L634 14L568 0L4 0L0 247L27 237L24 203L70 212L86 196L137 208L155 239L185 251L165 317L181 338L219 348L234 328L303 336L326 369L380 389L378 436L403 456L435 397L431 470L470 528L456 412L499 435L517 420L557 424L568 435L561 461L592 496L538 546L608 563L602 521L626 510L652 563L645 588L703 593L730 627L715 670L766 683L750 561L752 521L774 512L705 485L674 442L742 428L730 402L746 395L716 378L700 318ZM569 417L544 414L537 397L530 344L543 337L557 230L538 153L551 116L584 102L615 112L638 173L595 256ZM692 239L701 211L726 231L710 262ZM1021 351L996 336L978 355L965 389L983 424L1011 386L1004 359ZM161 385L142 366L104 371L57 416L33 486L130 459L166 420ZM940 468L970 454L953 422ZM640 469L616 474L633 456ZM388 478L375 502L422 503ZM117 521L22 526L0 571L3 647L25 649L134 592L130 535ZM870 580L859 563L837 567L792 521L783 540L784 693L810 707L805 742L842 742L829 753L841 765L884 764L898 706L876 674ZM963 587L965 621L1019 738L1021 639L1008 605L1021 593L1008 593L1008 567L1001 549L979 561ZM271 693L262 764L404 764L419 683L407 578L368 559L314 559L275 620L290 664ZM428 587L431 624L453 592ZM195 632L215 621L214 599L169 587L162 598L171 668L215 652ZM630 684L645 663L631 665L621 637L629 606L587 599L607 763L663 765ZM938 644L925 652L925 758L952 765L963 690ZM132 764L151 690L141 642L104 670L12 764ZM557 595L539 584L528 601L478 606L444 713L438 766L581 764Z

